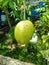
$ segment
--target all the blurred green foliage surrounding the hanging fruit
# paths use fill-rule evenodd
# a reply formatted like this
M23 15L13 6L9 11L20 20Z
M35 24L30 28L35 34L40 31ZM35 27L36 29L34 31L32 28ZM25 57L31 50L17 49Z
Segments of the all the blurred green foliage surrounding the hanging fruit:
M26 62L35 63L36 65L47 65L49 61L49 1L45 2L44 8L39 8L40 18L34 22L35 34L37 42L29 42L25 47L18 47L18 43L14 39L14 26L23 20L24 11L23 0L0 0L0 9L6 13L8 23L15 23L3 35L0 40L0 54L19 59ZM31 8L36 6L26 2L26 19L31 20ZM44 11L44 12L43 12Z

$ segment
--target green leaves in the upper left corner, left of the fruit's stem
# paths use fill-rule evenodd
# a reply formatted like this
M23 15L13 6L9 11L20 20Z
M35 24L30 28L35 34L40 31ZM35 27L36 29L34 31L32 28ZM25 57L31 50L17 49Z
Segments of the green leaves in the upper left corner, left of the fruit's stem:
M0 9L3 10L7 16L13 17L14 22L20 21L21 17L21 5L23 0L0 0Z

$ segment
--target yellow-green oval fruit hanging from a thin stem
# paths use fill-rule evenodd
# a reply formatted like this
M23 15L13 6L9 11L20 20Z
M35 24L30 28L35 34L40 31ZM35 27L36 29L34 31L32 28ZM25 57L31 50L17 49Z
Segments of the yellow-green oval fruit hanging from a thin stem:
M29 42L34 32L34 25L31 21L20 21L14 30L14 37L20 45L24 45Z

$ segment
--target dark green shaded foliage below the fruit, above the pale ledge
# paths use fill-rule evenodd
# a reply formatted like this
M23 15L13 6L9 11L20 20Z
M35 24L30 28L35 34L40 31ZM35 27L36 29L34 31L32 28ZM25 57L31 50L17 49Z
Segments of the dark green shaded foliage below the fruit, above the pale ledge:
M37 43L38 44L38 43ZM38 49L42 47L39 44L37 45L36 43L28 43L25 47L19 48L16 47L13 50L6 48L1 48L0 54L4 56L9 56L15 59L19 59L21 61L25 62L31 62L36 65L46 65L46 60L43 58L42 54L39 52ZM5 46L2 45L2 47ZM38 47L39 46L39 47Z

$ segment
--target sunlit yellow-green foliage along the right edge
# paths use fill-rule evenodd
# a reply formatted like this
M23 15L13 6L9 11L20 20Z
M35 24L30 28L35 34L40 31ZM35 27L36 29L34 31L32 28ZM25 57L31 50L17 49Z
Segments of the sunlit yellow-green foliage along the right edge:
M35 28L38 41L41 40L40 53L43 58L49 60L49 4L46 2L45 12L40 13L40 20L36 21ZM47 53L47 54L46 54Z

